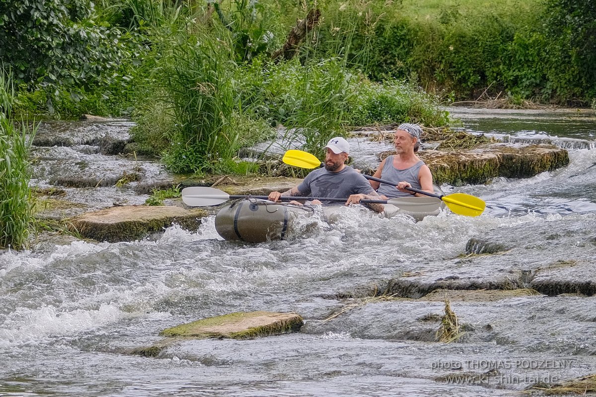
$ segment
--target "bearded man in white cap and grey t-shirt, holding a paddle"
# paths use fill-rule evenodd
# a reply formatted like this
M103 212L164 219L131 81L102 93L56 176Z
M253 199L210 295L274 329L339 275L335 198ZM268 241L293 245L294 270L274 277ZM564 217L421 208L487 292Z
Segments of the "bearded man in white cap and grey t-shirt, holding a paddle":
M278 201L281 196L312 196L346 198L346 205L358 204L361 199L378 199L378 193L368 180L354 168L346 165L350 144L341 136L331 138L327 143L325 168L309 173L302 183L286 192L271 192L269 200ZM313 204L328 204L314 200ZM381 212L383 204L368 204L371 210Z

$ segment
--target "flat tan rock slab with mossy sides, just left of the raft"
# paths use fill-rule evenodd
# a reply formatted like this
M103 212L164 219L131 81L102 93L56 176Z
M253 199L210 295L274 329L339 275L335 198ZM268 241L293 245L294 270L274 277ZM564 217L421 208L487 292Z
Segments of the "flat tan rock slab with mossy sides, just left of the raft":
M200 209L125 205L79 215L70 220L69 230L98 241L132 241L159 232L172 223L197 230L205 216L207 211Z

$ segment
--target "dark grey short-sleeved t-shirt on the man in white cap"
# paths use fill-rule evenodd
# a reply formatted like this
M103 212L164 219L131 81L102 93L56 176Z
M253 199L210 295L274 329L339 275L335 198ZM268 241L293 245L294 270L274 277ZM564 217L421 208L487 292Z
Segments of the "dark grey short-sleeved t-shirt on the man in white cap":
M298 185L301 196L332 197L347 199L350 195L374 192L368 180L354 168L346 165L342 171L332 173L319 168L309 173ZM322 201L323 204L330 202Z

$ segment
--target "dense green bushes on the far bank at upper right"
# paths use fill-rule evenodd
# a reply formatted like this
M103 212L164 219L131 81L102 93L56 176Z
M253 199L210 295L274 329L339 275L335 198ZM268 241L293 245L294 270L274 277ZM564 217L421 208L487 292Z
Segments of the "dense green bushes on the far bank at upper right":
M330 5L318 54L333 52L340 36L350 64L361 65L373 80L414 77L445 98L500 93L513 101L589 104L596 96L591 0L535 0L523 7L501 2L482 9L458 2L424 17L398 3L382 9L378 3L371 2L367 18L346 32L336 32L342 15Z

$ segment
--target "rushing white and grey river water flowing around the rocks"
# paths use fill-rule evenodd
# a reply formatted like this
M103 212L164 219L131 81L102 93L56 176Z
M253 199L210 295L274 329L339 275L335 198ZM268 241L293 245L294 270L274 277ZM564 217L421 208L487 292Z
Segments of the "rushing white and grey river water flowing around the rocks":
M492 396L596 373L594 112L451 111L471 132L567 148L570 164L443 186L485 200L476 218L414 223L350 208L332 230L249 244L221 240L210 217L196 233L172 226L136 242L2 251L0 396ZM508 251L466 255L473 238ZM468 299L474 288L461 287L451 307L465 333L455 343L434 342L440 294L363 304L390 280L490 290L504 279L534 286L527 274L588 293ZM306 324L128 354L167 327L253 310L297 312Z

